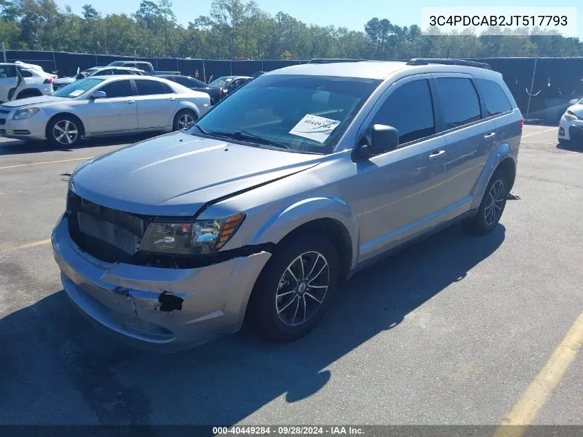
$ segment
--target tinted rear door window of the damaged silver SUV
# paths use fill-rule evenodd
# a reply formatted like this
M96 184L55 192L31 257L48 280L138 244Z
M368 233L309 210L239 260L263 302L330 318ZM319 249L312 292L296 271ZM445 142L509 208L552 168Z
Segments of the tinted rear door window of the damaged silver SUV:
M435 88L439 95L439 111L444 130L475 122L480 115L480 99L470 79L465 77L437 77Z

